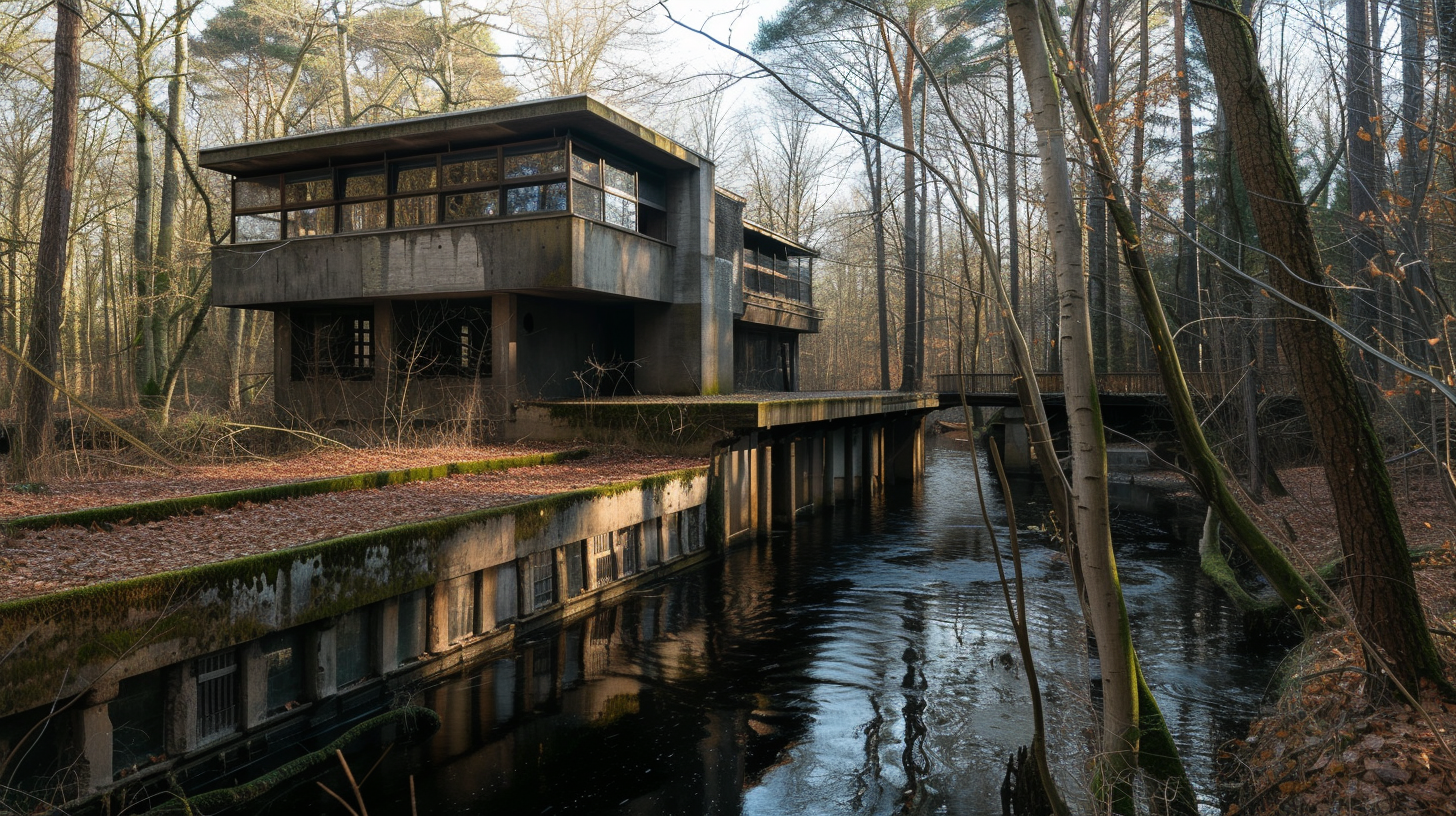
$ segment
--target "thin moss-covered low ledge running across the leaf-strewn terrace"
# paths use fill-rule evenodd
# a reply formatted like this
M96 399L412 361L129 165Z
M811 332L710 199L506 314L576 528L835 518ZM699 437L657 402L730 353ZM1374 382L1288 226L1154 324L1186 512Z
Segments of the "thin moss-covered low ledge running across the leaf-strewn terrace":
M226 493L207 493L201 495L186 495L182 498L162 498L157 501L135 501L131 504L114 504L109 507L90 507L86 510L71 510L67 513L48 513L44 516L25 516L4 523L7 533L16 530L41 530L60 526L90 526L115 525L121 522L159 522L172 516L194 513L197 510L226 510L245 501L264 504L282 498L300 498L304 495L319 495L325 493L345 493L351 490L370 490L405 482L424 482L460 474L485 474L505 471L510 468L530 468L536 465L553 465L582 459L590 453L587 449L563 450L561 453L531 453L526 456L505 456L499 459L479 459L475 462L450 462L432 468L406 468L400 471L379 471L373 474L352 474L348 476L333 476L328 479L312 479L306 482L287 482L278 485L232 490Z

